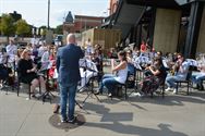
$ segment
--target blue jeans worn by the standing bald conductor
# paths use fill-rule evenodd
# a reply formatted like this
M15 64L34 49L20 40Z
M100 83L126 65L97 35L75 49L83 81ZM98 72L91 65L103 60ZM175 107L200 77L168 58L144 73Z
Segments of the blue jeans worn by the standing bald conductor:
M76 94L76 87L77 83L70 84L69 86L60 86L60 107L61 107L61 116L63 120L69 118L69 120L74 119L74 109L75 109L75 94ZM67 102L69 97L69 112L67 115Z

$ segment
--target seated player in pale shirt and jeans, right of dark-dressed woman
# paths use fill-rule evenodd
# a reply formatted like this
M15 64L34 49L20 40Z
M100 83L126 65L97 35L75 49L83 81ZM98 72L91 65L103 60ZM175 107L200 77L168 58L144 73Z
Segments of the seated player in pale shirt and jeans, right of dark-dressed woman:
M166 84L168 88L166 91L173 90L173 94L177 92L177 84L178 81L184 81L186 78L188 72L189 72L189 63L184 61L184 58L182 54L178 54L178 61L174 64L174 75L169 75L166 78Z

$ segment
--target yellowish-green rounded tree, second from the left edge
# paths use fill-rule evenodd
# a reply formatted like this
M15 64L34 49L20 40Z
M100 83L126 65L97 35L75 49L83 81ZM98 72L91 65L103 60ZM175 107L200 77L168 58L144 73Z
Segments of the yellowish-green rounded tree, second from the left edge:
M16 35L24 37L31 32L29 25L25 20L19 20L16 22Z

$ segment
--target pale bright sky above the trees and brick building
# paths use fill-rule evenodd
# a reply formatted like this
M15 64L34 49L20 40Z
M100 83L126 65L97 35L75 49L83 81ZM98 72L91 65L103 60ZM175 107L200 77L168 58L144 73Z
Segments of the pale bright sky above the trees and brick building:
M106 16L109 0L50 0L50 26L62 24L72 14ZM47 25L48 0L0 0L0 15L17 11L31 25Z

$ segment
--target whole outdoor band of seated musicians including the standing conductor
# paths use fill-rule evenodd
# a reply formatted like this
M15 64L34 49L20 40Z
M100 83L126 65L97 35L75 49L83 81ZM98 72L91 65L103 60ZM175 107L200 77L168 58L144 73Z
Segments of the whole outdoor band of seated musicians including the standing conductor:
M57 47L44 42L32 41L23 48L17 48L13 40L1 49L0 52L0 79L1 85L8 82L10 74L17 73L23 83L31 84L31 92L35 97L35 88L40 85L46 91L46 81L51 79L60 88L60 108L62 122L73 123L75 94L80 83L81 91L89 84L93 76L97 76L99 89L95 95L108 90L112 97L117 85L125 84L129 75L135 75L136 71L144 74L138 82L140 96L155 92L161 84L167 85L166 91L177 92L177 81L186 79L190 65L198 69L197 74L191 77L198 89L203 89L205 79L205 58L200 60L185 59L181 53L166 53L150 49L147 44L141 47L125 48L117 52L110 49L108 58L111 63L111 73L104 74L104 54L100 45L93 46L87 40L87 48L82 50L76 45L74 34L69 34L67 45ZM41 74L48 72L48 78ZM135 82L135 81L133 81ZM69 98L69 109L67 101Z

